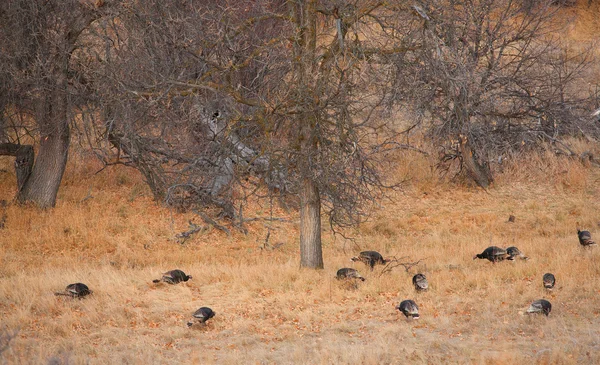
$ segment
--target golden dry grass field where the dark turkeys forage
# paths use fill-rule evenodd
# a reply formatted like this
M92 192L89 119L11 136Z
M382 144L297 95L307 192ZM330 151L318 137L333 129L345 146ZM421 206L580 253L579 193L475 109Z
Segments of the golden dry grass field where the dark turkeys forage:
M410 178L372 220L324 231L325 269L300 270L297 216L227 237L209 229L184 245L193 214L157 206L141 178L72 154L55 209L10 204L0 230L0 321L14 334L2 364L600 363L600 247L582 249L576 223L600 239L600 172L551 153L508 165L485 192L440 181L419 156L397 159ZM14 196L12 161L0 159L0 199ZM91 195L91 198L84 199ZM254 204L247 217L269 215ZM0 212L1 213L1 212ZM509 215L516 217L508 223ZM528 261L472 260L490 244L518 246ZM349 259L360 250L423 259L381 273ZM338 268L366 277L356 288ZM193 279L152 283L179 268ZM411 277L427 275L416 293ZM557 285L548 293L542 275ZM94 293L53 293L73 282ZM519 314L547 298L552 313ZM414 299L421 318L394 309ZM197 308L217 314L187 328Z

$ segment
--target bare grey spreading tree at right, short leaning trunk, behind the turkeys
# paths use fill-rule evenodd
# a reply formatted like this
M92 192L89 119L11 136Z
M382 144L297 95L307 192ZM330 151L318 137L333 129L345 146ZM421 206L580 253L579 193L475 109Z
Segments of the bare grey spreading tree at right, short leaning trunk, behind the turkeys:
M581 88L589 53L560 42L550 4L431 0L413 7L421 26L397 82L411 83L403 95L430 121L440 161L458 160L482 187L493 180L490 160L547 136L598 135Z

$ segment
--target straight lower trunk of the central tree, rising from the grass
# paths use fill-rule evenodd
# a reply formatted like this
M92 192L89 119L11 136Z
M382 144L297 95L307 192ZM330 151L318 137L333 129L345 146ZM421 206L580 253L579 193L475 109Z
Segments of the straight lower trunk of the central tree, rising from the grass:
M321 197L310 178L304 178L300 187L300 267L323 268Z

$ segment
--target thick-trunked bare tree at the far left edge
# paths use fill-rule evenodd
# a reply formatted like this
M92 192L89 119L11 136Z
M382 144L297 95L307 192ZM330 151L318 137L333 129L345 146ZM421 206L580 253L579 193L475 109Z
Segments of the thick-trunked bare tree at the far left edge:
M98 2L101 5L102 2ZM16 155L18 200L54 206L70 143L72 85L78 83L73 60L80 34L100 16L94 2L5 1L0 5L2 126L16 128L16 143L0 153ZM20 146L20 121L32 119L39 138L37 159ZM6 130L4 137L7 139Z

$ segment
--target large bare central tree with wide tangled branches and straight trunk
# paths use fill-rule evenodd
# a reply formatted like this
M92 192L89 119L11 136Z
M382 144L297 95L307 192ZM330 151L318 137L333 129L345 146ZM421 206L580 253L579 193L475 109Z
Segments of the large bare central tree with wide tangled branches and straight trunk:
M135 4L98 24L106 42L103 126L110 163L139 169L157 200L220 206L266 186L297 198L301 266L322 268L321 210L365 219L386 184L381 118L394 68L394 8L379 1ZM115 92L116 91L116 92ZM237 192L237 193L236 193Z

